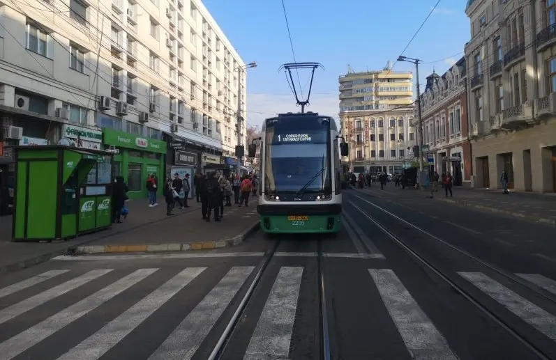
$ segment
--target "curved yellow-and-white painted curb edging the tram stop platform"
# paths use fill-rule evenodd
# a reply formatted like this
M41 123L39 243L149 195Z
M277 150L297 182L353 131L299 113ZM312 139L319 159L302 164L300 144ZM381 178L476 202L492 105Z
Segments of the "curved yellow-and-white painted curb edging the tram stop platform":
M230 237L225 240L212 240L205 242L186 242L183 244L134 244L134 245L102 245L102 246L73 246L70 251L73 255L79 256L85 253L144 253L144 252L167 252L167 251L192 251L192 250L212 250L227 246L242 244L246 238L259 229L260 221L240 235Z

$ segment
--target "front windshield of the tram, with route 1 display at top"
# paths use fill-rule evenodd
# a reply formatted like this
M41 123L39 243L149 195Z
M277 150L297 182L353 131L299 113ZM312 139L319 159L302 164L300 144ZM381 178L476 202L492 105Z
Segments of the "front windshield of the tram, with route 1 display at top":
M330 130L322 119L266 127L264 189L266 194L331 193ZM303 124L300 124L303 121Z

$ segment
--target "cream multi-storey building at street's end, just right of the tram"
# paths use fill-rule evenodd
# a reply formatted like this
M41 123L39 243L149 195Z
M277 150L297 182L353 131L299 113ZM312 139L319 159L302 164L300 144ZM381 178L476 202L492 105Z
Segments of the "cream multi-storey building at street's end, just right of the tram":
M340 127L350 143L343 162L359 173L400 172L413 159L412 72L348 72L340 81Z

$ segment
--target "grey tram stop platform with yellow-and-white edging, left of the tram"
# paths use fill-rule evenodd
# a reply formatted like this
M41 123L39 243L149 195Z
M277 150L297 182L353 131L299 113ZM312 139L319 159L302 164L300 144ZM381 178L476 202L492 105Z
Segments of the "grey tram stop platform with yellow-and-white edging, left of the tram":
M254 203L253 203L254 204ZM183 210L175 210L179 214ZM130 230L77 246L77 253L126 253L144 251L187 251L216 249L240 244L257 230L259 216L255 205L224 207L221 221L204 221L197 210L174 216L163 223Z

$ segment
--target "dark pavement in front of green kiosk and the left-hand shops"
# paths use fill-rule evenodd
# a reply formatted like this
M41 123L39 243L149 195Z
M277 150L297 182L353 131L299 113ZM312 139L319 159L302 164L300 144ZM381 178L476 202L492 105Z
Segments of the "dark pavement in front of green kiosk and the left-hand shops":
M176 210L174 217L167 217L165 204L160 203L156 208L149 208L146 199L135 199L127 201L126 206L129 216L122 224L113 224L108 230L99 231L77 237L72 240L60 242L12 242L11 241L11 217L0 218L0 274L13 272L17 269L43 263L56 256L65 253L73 253L78 246L84 246L103 239L114 239L119 236L126 236L126 233L149 233L149 228L165 227L168 224L176 224L185 221L190 215L195 214L195 226L201 223L200 203L189 201L190 208L186 210ZM250 208L251 209L251 208ZM254 209L254 208L253 208ZM190 215L188 215L190 214ZM192 218L193 219L193 218ZM198 220L197 220L198 219ZM227 222L227 221L226 221ZM212 223L211 223L212 224ZM222 223L217 224L225 224ZM172 226L167 226L172 228ZM215 227L216 229L216 227ZM213 229L211 229L213 231ZM205 229L205 231L207 231ZM207 235L210 235L208 233ZM195 233L193 235L199 235ZM241 235L240 233L234 236ZM158 238L156 235L155 238ZM193 240L193 237L190 237ZM193 249L193 247L192 247ZM170 249L173 250L173 249Z

